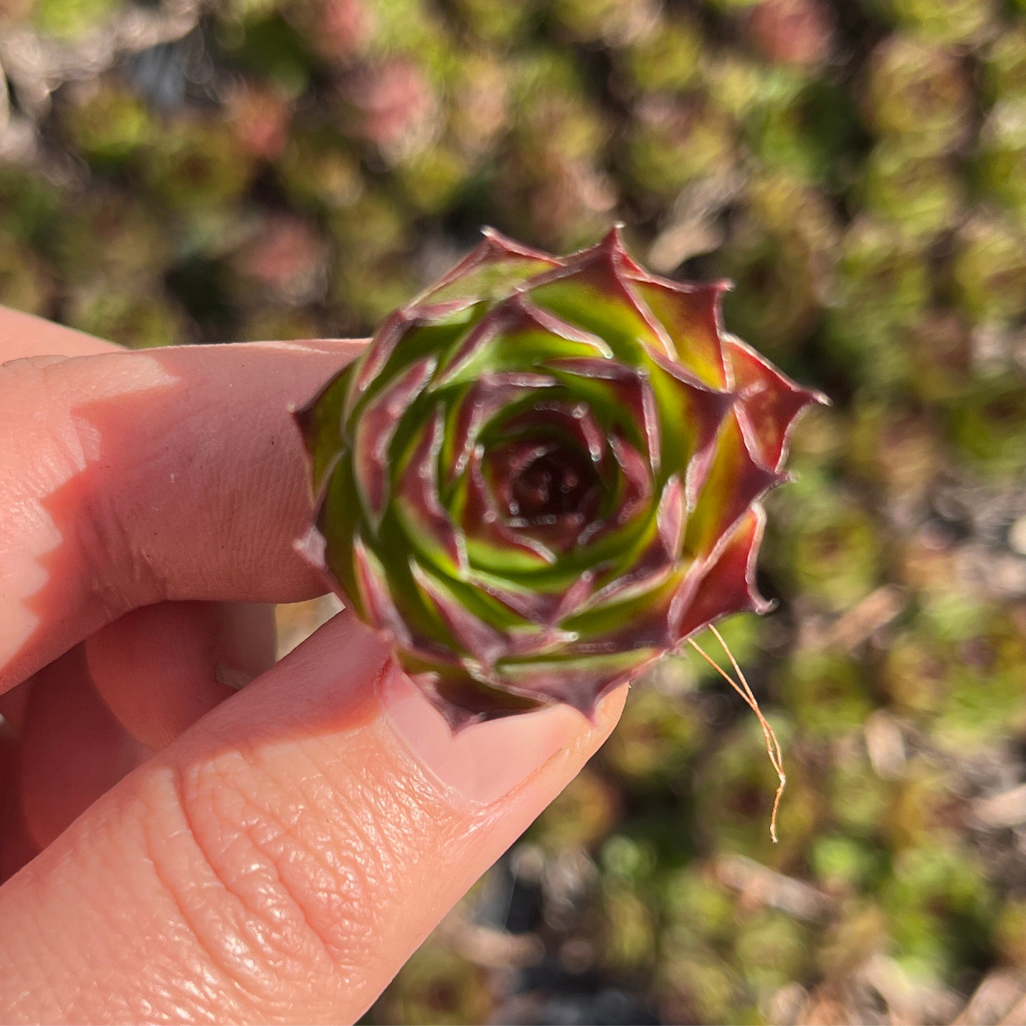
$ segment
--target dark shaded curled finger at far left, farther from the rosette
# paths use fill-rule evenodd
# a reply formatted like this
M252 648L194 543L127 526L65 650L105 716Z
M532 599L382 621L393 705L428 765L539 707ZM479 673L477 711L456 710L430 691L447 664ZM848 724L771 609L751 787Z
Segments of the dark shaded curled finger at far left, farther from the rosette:
M37 674L18 748L18 801L39 849L149 755L93 689L81 646Z

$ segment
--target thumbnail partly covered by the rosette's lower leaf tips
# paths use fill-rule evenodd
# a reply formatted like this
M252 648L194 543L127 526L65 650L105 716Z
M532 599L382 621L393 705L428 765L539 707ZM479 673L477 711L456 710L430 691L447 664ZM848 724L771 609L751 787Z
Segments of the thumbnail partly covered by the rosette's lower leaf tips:
M499 800L582 735L600 728L576 709L559 705L477 723L453 735L400 670L388 671L379 689L403 745L446 788L475 804Z

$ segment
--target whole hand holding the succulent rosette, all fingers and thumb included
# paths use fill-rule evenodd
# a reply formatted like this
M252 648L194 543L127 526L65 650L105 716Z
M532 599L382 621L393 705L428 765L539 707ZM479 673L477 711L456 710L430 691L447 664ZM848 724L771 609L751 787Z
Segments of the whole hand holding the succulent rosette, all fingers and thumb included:
M346 613L274 662L323 591L288 409L360 346L0 310L5 1026L353 1023L611 731L452 738Z

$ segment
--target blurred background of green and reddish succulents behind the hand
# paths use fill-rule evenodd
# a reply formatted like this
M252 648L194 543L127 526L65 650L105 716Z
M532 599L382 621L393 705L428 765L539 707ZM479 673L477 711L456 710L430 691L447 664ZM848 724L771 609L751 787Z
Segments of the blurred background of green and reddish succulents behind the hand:
M1024 0L0 0L0 302L361 334L481 224L622 220L835 400L726 627L780 843L666 664L368 1026L1026 1021Z

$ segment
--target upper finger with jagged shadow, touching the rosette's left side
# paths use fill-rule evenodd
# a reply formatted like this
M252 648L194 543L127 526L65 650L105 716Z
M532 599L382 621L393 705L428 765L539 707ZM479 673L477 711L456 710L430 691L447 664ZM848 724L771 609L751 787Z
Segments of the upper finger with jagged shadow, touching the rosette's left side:
M290 408L357 343L0 368L0 690L129 609L323 592Z

